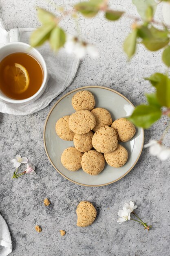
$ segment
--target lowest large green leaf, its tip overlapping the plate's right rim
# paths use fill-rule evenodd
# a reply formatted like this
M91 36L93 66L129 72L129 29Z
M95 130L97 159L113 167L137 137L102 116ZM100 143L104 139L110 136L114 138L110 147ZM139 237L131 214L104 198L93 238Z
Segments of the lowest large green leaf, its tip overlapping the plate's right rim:
M161 110L155 106L139 105L128 118L136 126L149 128L161 117Z

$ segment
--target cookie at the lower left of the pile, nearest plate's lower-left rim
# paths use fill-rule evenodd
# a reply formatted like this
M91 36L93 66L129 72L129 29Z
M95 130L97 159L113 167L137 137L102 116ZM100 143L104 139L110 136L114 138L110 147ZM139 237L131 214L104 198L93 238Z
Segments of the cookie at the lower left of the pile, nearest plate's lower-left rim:
M63 166L69 171L78 171L81 168L81 160L83 153L74 147L66 148L61 156Z

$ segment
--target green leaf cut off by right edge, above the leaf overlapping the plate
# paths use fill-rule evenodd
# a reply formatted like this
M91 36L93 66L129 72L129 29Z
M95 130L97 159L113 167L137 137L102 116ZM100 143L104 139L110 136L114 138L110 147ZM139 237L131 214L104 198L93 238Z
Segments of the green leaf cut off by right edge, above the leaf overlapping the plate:
M170 79L164 75L164 78L157 84L157 99L161 106L170 107Z

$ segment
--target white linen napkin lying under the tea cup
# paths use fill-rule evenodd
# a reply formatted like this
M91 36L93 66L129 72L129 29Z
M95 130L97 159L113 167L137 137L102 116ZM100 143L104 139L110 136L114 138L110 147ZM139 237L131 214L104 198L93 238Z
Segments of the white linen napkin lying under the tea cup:
M33 30L33 28L19 29L21 42L29 43L29 37ZM9 32L4 29L0 19L0 47L5 43L9 43ZM33 103L17 105L0 101L0 112L13 115L33 114L48 106L73 81L79 66L79 60L74 54L67 54L64 48L55 54L48 43L38 47L38 51L44 57L49 72L49 81L45 92Z

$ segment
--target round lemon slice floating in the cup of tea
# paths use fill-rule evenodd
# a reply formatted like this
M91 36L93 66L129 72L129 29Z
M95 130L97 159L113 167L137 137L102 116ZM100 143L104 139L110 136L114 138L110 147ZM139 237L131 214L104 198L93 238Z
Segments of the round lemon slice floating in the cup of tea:
M16 94L25 92L29 87L29 74L24 66L15 63L13 66L6 66L4 69L5 80Z

